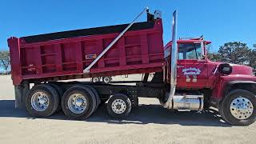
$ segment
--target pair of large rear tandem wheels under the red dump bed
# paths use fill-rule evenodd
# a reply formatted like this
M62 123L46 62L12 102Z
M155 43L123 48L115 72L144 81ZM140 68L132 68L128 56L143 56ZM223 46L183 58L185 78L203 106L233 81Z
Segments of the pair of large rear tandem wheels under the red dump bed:
M26 94L26 110L34 117L45 118L63 110L68 118L83 120L93 114L100 104L92 86L73 86L63 90L55 84L34 86Z

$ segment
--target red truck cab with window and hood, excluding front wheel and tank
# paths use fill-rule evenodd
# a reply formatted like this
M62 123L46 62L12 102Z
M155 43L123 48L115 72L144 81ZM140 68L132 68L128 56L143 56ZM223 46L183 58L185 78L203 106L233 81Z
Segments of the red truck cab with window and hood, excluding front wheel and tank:
M212 62L207 57L207 48L211 42L201 38L182 39L177 41L178 59L177 59L177 89L213 89L222 76L251 77L254 81L253 69L250 66L229 64L224 62ZM170 83L170 62L172 42L166 44L166 78L165 82ZM219 65L225 65L218 70ZM168 74L169 73L169 74ZM221 74L223 73L223 74Z

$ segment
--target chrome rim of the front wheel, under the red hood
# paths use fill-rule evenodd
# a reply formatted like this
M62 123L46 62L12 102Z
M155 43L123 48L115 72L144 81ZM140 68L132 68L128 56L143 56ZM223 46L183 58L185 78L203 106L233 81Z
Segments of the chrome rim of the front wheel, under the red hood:
M230 104L230 112L234 118L243 120L250 118L254 112L254 106L249 99L239 97L235 98Z

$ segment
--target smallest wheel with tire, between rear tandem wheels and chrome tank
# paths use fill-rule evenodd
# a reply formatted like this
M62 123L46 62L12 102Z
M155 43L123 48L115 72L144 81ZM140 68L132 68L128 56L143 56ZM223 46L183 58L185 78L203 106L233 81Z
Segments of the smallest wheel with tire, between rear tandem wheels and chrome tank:
M121 107L114 107L115 104ZM126 118L130 114L130 110L131 102L125 94L114 94L107 102L107 111L112 118Z

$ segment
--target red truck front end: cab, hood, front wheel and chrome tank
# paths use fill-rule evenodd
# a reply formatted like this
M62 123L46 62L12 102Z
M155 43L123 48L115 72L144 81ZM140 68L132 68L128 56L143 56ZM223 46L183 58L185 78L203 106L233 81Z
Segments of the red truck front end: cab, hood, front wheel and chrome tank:
M179 111L202 110L202 105L204 109L214 106L226 122L234 125L254 122L256 77L253 69L250 66L210 61L207 47L211 42L203 37L180 38L176 42L177 56L172 50L172 41L164 47L164 82L170 84L170 93L174 89L174 94L166 94L162 103L171 99L169 107ZM171 65L174 58L177 58L176 62ZM175 67L176 72L171 70ZM172 71L174 82L171 79ZM195 102L195 99L198 101Z

